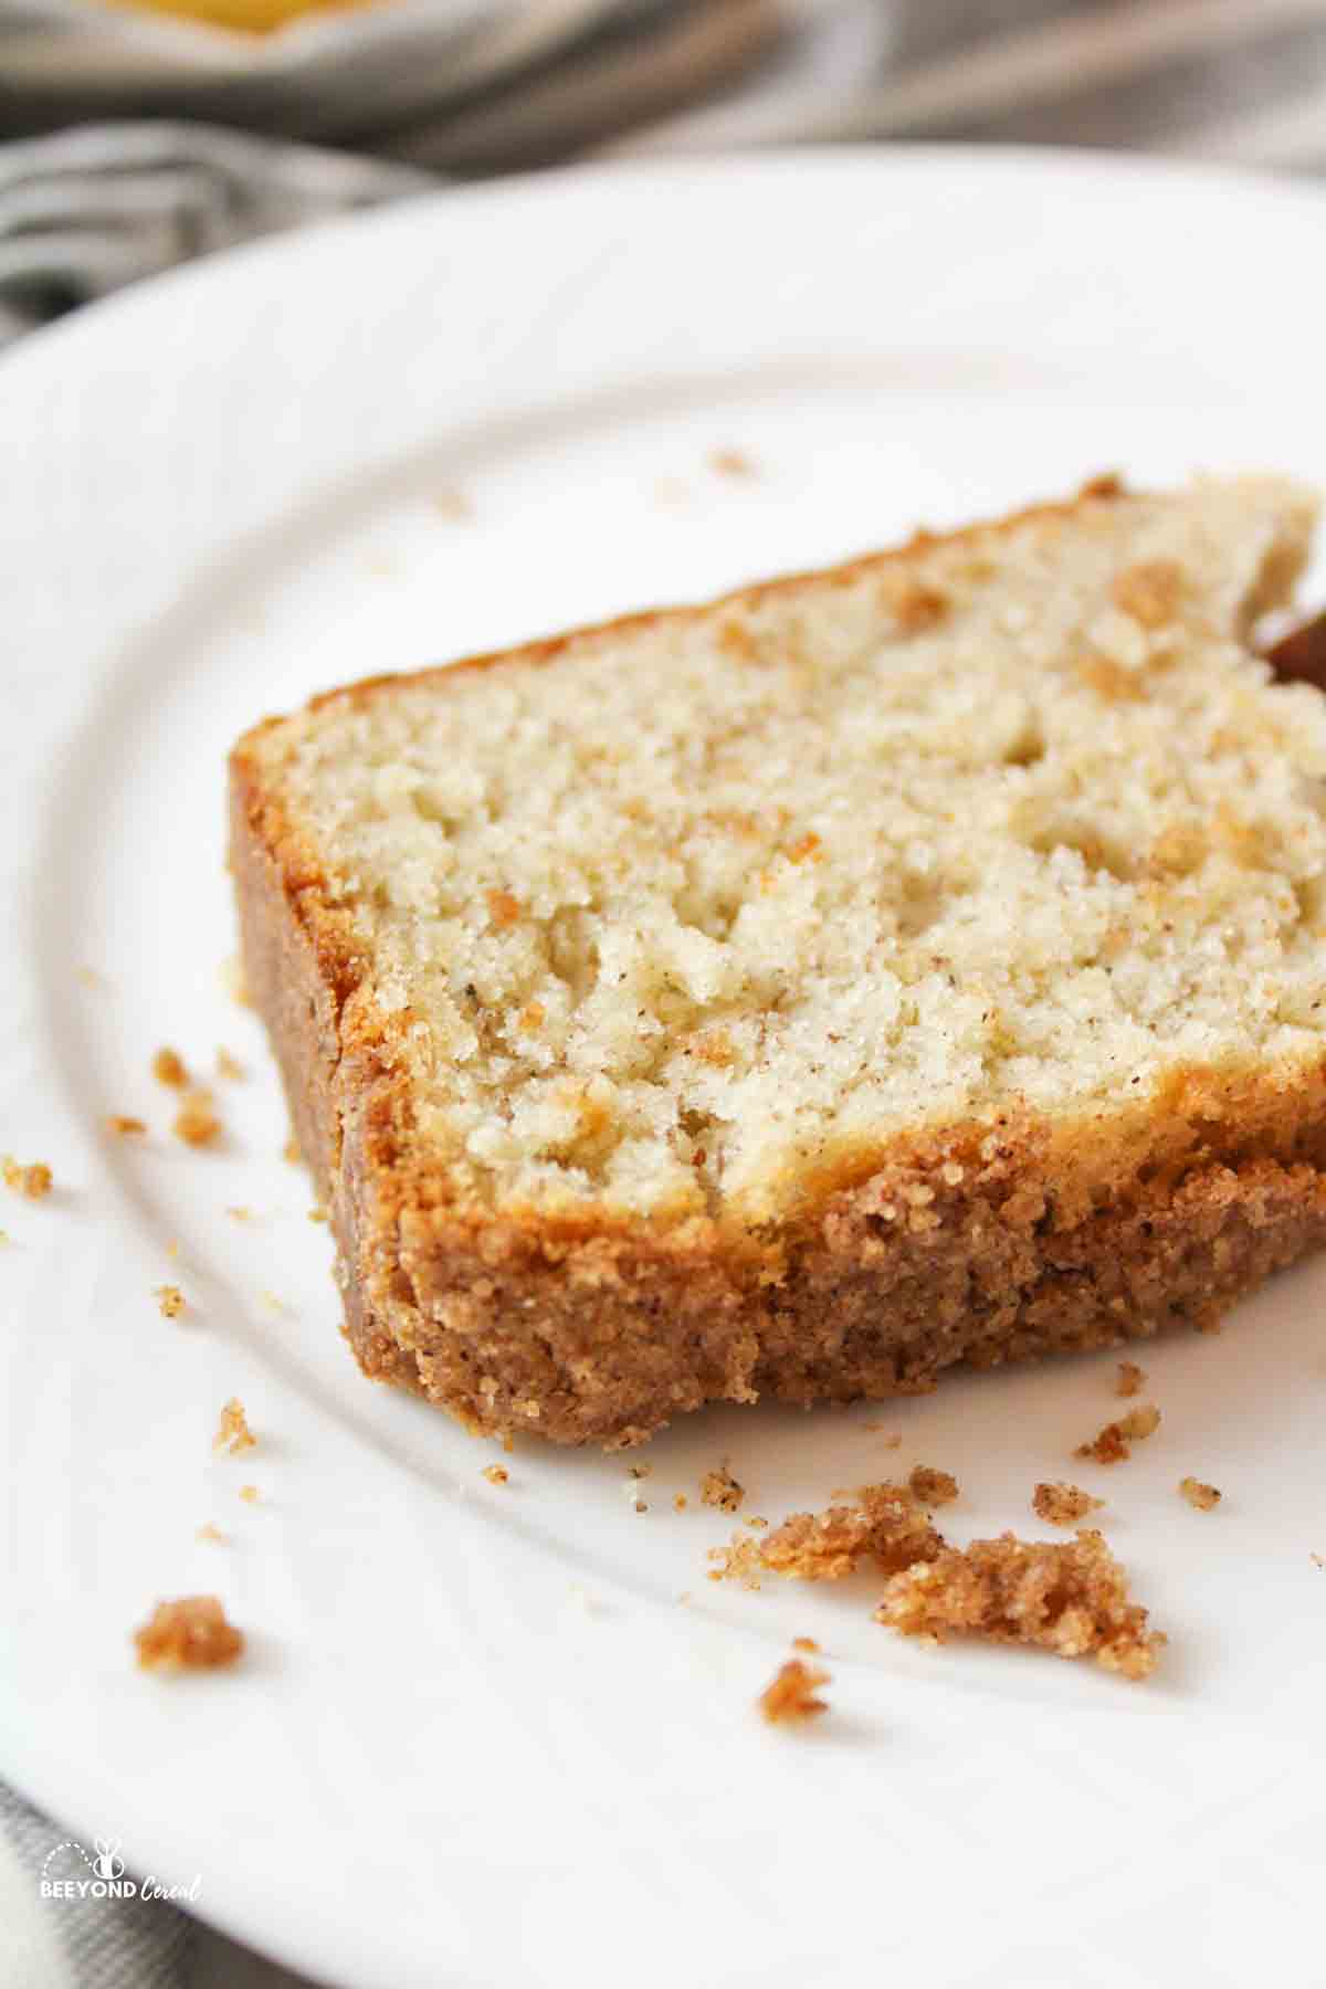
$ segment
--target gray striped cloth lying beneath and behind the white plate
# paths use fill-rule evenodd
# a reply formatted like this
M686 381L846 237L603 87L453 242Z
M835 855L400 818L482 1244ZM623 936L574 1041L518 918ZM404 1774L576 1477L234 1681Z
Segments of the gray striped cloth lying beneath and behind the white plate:
M1326 0L390 0L260 66L97 0L0 0L0 342L437 173L920 137L1326 171ZM62 1838L0 1786L0 1989L296 1983L169 1905L40 1915Z

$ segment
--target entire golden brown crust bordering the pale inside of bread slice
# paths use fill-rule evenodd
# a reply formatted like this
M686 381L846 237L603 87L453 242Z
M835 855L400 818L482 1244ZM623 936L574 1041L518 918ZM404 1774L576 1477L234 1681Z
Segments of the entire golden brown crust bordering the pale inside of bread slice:
M1038 507L1004 529L1074 509ZM730 601L823 581L795 575ZM545 664L586 634L660 619L451 668ZM314 708L394 682L370 678ZM1292 1072L1191 1068L1159 1100L1072 1122L1010 1108L839 1150L791 1183L773 1223L461 1207L412 1140L402 1022L368 998L352 917L264 786L254 742L276 722L231 758L247 981L330 1209L360 1364L475 1430L616 1448L712 1400L928 1390L960 1360L994 1366L1207 1325L1326 1241L1326 1058Z

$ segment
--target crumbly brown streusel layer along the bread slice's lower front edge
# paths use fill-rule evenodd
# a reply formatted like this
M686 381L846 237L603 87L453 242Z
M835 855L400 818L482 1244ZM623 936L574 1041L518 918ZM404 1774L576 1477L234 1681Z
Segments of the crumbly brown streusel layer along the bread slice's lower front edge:
M851 1225L861 1243L867 1223ZM535 1243L505 1263L415 1259L402 1285L427 1299L402 1295L390 1315L366 1303L350 1265L342 1293L366 1374L417 1388L479 1430L616 1448L712 1400L916 1394L960 1360L998 1366L1211 1327L1320 1243L1316 1170L1258 1162L1044 1239L968 1201L922 1241L897 1237L883 1263L841 1237L765 1293L736 1291L722 1265L660 1263L624 1245L604 1281L584 1285Z

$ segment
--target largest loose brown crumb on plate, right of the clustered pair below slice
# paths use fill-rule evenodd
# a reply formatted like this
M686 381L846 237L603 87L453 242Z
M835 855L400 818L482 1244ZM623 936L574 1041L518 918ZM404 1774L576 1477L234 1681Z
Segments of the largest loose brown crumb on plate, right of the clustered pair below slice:
M877 1623L942 1643L948 1631L1030 1643L1056 1657L1093 1655L1125 1679L1155 1671L1165 1639L1127 1597L1123 1569L1091 1530L1072 1541L974 1539L893 1575Z

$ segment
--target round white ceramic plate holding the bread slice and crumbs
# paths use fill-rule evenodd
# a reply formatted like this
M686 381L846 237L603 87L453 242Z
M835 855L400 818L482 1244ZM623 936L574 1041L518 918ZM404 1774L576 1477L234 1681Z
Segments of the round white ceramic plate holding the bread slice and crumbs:
M1111 1474L1070 1464L1115 1410L1099 1356L692 1418L648 1512L624 1458L521 1444L493 1488L356 1372L219 969L227 746L320 686L1111 465L1320 475L1324 229L1312 191L1046 153L577 173L223 259L0 366L0 1126L58 1177L2 1217L0 1770L68 1828L346 1983L1306 1979L1322 1267L1147 1351L1165 1422ZM245 1060L219 1152L169 1136L163 1042ZM258 1448L215 1460L233 1394ZM867 1577L712 1585L722 1456L771 1520L946 1466L956 1537L1089 1482L1165 1669L916 1649ZM189 1591L250 1657L161 1683L129 1631ZM833 1671L805 1734L751 1711L797 1633Z

